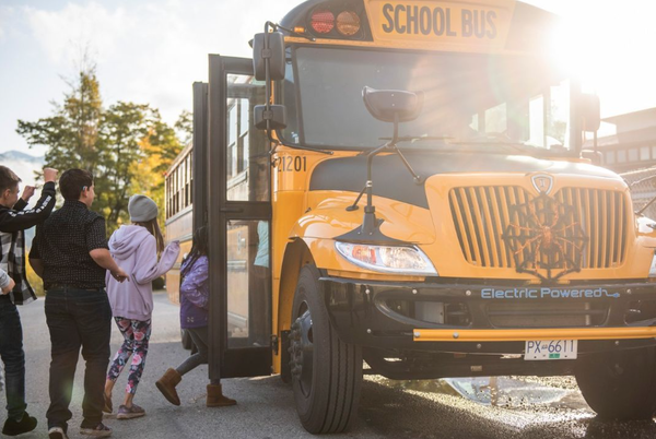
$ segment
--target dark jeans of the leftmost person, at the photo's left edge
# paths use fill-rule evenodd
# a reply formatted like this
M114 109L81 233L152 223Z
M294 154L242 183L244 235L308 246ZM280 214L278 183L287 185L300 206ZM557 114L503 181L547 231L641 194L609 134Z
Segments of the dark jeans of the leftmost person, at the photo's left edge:
M8 416L21 420L27 407L23 328L16 306L9 296L0 296L0 357L4 363Z

